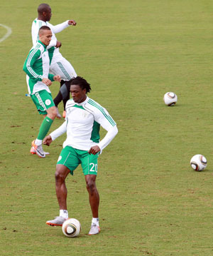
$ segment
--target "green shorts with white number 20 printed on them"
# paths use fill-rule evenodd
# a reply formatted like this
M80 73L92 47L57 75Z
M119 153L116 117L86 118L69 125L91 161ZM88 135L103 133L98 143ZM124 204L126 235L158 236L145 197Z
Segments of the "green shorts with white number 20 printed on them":
M99 153L96 155L89 155L87 151L75 149L67 145L61 150L57 165L65 165L70 169L70 173L73 175L73 170L81 164L84 175L97 175L98 157Z

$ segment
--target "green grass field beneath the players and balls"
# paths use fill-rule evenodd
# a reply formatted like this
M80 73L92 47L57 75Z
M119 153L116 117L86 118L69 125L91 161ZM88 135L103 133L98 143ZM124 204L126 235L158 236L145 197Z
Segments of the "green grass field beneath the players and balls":
M212 1L48 2L52 24L77 21L57 34L60 51L119 128L99 158L99 235L87 235L81 168L67 179L70 217L82 223L75 239L45 225L58 215L54 173L65 136L45 159L29 153L42 118L24 96L22 67L39 4L8 0L0 10L0 24L12 29L0 43L0 255L212 256ZM0 26L0 39L5 33ZM167 91L176 106L163 103ZM208 160L200 173L190 168L198 153Z

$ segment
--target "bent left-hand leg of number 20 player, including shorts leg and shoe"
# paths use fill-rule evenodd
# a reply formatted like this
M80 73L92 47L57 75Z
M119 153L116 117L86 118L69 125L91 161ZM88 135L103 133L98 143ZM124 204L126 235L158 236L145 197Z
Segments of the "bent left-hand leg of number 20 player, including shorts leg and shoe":
M77 168L80 161L77 158L75 150L72 147L65 147L62 149L55 171L55 191L58 199L58 205L60 208L60 214L55 217L54 220L48 220L46 223L51 226L62 226L68 218L67 211L67 187L65 179L70 173L73 175L73 170Z

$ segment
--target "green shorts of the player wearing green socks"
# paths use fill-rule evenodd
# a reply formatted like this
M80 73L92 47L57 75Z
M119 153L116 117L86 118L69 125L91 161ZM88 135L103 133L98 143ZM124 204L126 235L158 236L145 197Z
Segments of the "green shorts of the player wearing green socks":
M53 97L51 93L46 90L38 91L37 93L31 95L31 99L35 103L38 112L42 115L47 114L47 109L55 106Z

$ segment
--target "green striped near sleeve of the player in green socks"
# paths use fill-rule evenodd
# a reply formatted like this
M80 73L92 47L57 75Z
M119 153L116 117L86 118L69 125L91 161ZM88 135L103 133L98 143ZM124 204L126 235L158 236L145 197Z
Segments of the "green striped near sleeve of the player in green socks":
M23 71L29 76L29 78L34 78L35 81L42 81L43 76L35 72L33 64L40 58L40 50L33 48L28 54L26 61L23 64Z

